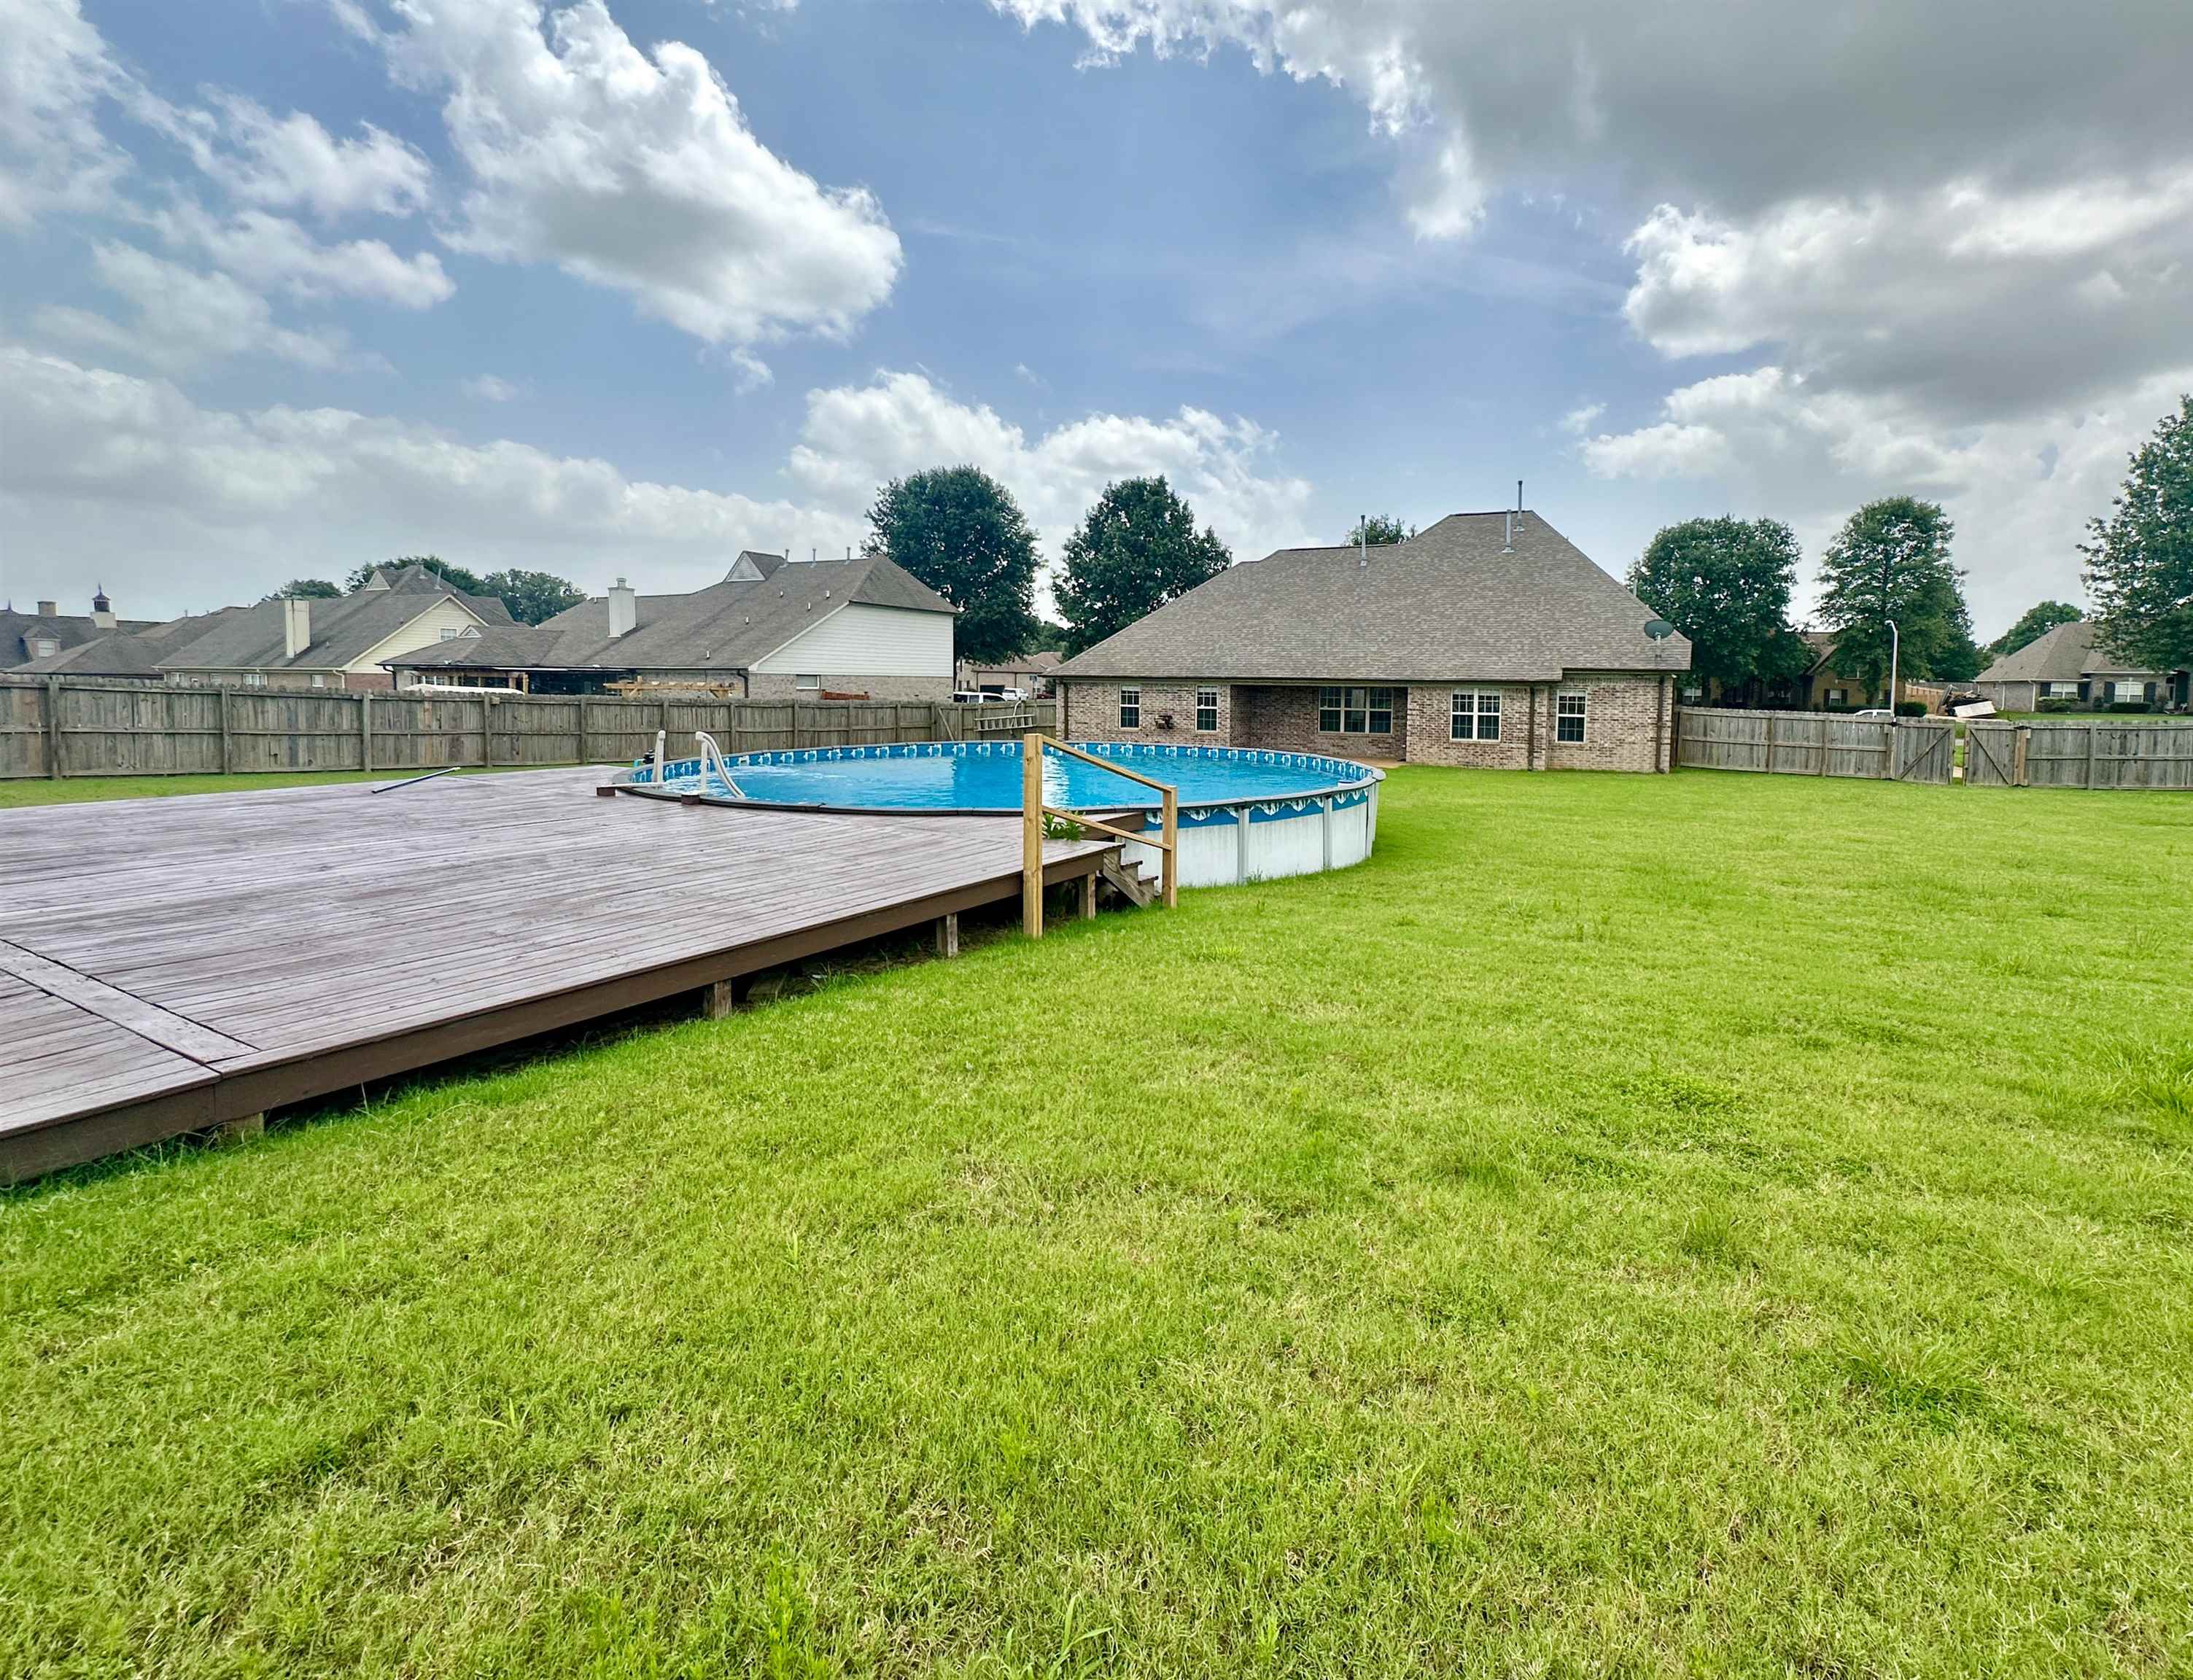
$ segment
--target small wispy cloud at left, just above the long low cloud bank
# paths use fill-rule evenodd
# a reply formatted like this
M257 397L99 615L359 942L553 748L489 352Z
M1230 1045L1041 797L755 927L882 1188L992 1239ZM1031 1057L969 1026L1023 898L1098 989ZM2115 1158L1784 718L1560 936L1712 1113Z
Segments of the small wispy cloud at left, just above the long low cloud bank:
M342 333L276 327L268 300L228 274L202 274L116 241L92 252L92 268L99 283L129 305L129 320L55 305L33 316L42 333L118 351L164 373L184 373L230 355L272 355L305 368L353 362ZM11 445L20 445L20 439L11 439Z

